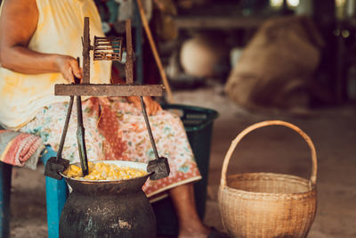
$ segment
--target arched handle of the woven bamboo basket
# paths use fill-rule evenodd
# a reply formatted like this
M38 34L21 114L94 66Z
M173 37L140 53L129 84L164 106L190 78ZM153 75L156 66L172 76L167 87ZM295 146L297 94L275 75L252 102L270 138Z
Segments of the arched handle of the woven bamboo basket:
M238 136L236 136L236 138L231 142L231 146L225 155L225 159L223 160L222 179L220 181L222 187L226 186L226 171L228 169L228 165L229 165L229 161L231 159L232 152L234 152L236 146L239 144L239 142L242 140L242 138L257 128L268 127L268 126L272 126L272 125L289 127L291 129L295 130L299 135L302 135L303 139L309 145L309 148L311 149L311 152L312 152L312 175L311 175L310 181L312 182L312 185L316 184L317 168L318 168L317 153L315 152L314 144L312 144L312 139L308 135L306 135L299 127L295 127L295 125L293 125L291 123L288 123L288 122L282 121L282 120L266 120L263 122L255 123L254 125L247 127Z

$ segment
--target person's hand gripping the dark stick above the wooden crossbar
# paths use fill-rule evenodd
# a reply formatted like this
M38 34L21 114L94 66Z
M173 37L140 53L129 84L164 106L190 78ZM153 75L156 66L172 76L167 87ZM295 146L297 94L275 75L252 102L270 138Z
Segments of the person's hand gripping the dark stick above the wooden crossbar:
M74 76L82 78L82 70L75 58L69 55L58 55L56 64L63 78L69 83L75 83Z

